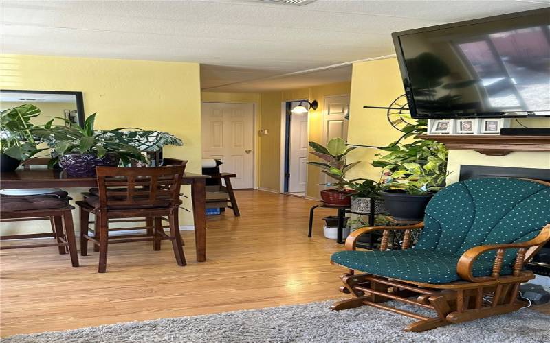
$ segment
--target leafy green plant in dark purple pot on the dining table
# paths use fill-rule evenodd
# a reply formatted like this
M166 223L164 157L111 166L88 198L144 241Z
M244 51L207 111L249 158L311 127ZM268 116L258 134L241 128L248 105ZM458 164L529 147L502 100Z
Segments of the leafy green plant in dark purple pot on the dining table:
M146 157L137 147L118 141L116 134L122 129L95 131L96 113L87 117L84 127L42 126L33 133L48 141L54 147L50 165L59 163L69 176L95 176L97 166L117 166L119 161L131 163L133 160L146 162Z

